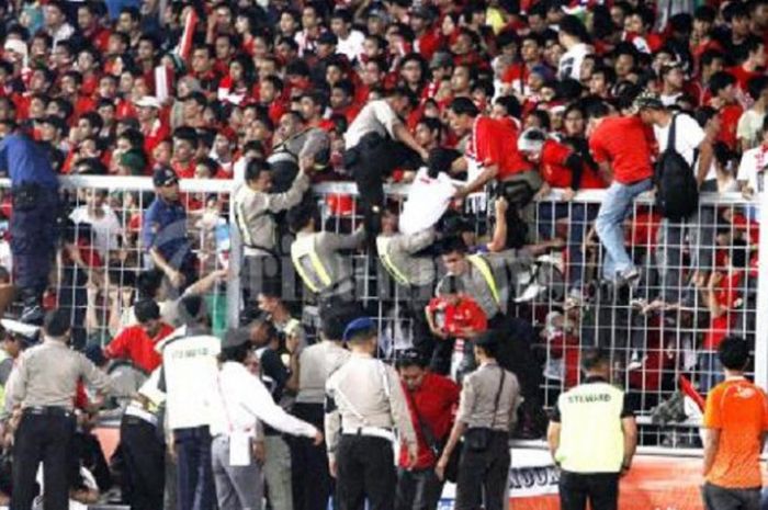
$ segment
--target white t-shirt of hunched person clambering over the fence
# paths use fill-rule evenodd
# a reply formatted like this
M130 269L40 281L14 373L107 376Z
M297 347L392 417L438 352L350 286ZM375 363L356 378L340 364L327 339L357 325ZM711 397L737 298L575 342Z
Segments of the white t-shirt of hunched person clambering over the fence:
M439 173L432 179L426 168L416 172L399 219L402 234L416 234L433 226L445 213L456 189L451 178Z

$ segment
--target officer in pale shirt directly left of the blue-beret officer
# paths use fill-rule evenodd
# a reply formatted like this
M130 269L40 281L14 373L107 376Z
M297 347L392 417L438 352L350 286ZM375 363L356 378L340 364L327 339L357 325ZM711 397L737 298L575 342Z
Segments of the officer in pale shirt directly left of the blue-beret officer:
M320 325L321 341L291 356L287 387L296 390L293 413L318 429L324 429L323 403L328 377L350 356L341 343L346 325L342 314L326 314ZM296 438L291 446L293 508L325 510L332 492L325 444L315 445L308 439ZM307 484L307 479L313 483Z

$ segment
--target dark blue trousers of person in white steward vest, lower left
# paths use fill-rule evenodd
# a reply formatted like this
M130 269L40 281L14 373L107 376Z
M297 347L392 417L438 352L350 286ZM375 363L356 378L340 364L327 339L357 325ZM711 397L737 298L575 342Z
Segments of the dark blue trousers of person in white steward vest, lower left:
M207 427L173 431L177 453L177 503L179 510L213 510L216 489Z

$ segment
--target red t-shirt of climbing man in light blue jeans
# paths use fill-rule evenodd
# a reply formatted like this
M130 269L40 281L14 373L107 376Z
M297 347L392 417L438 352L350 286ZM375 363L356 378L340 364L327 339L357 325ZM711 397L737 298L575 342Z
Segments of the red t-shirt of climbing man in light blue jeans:
M589 138L589 150L598 163L611 163L617 182L632 184L653 175L652 140L640 117L608 117Z

